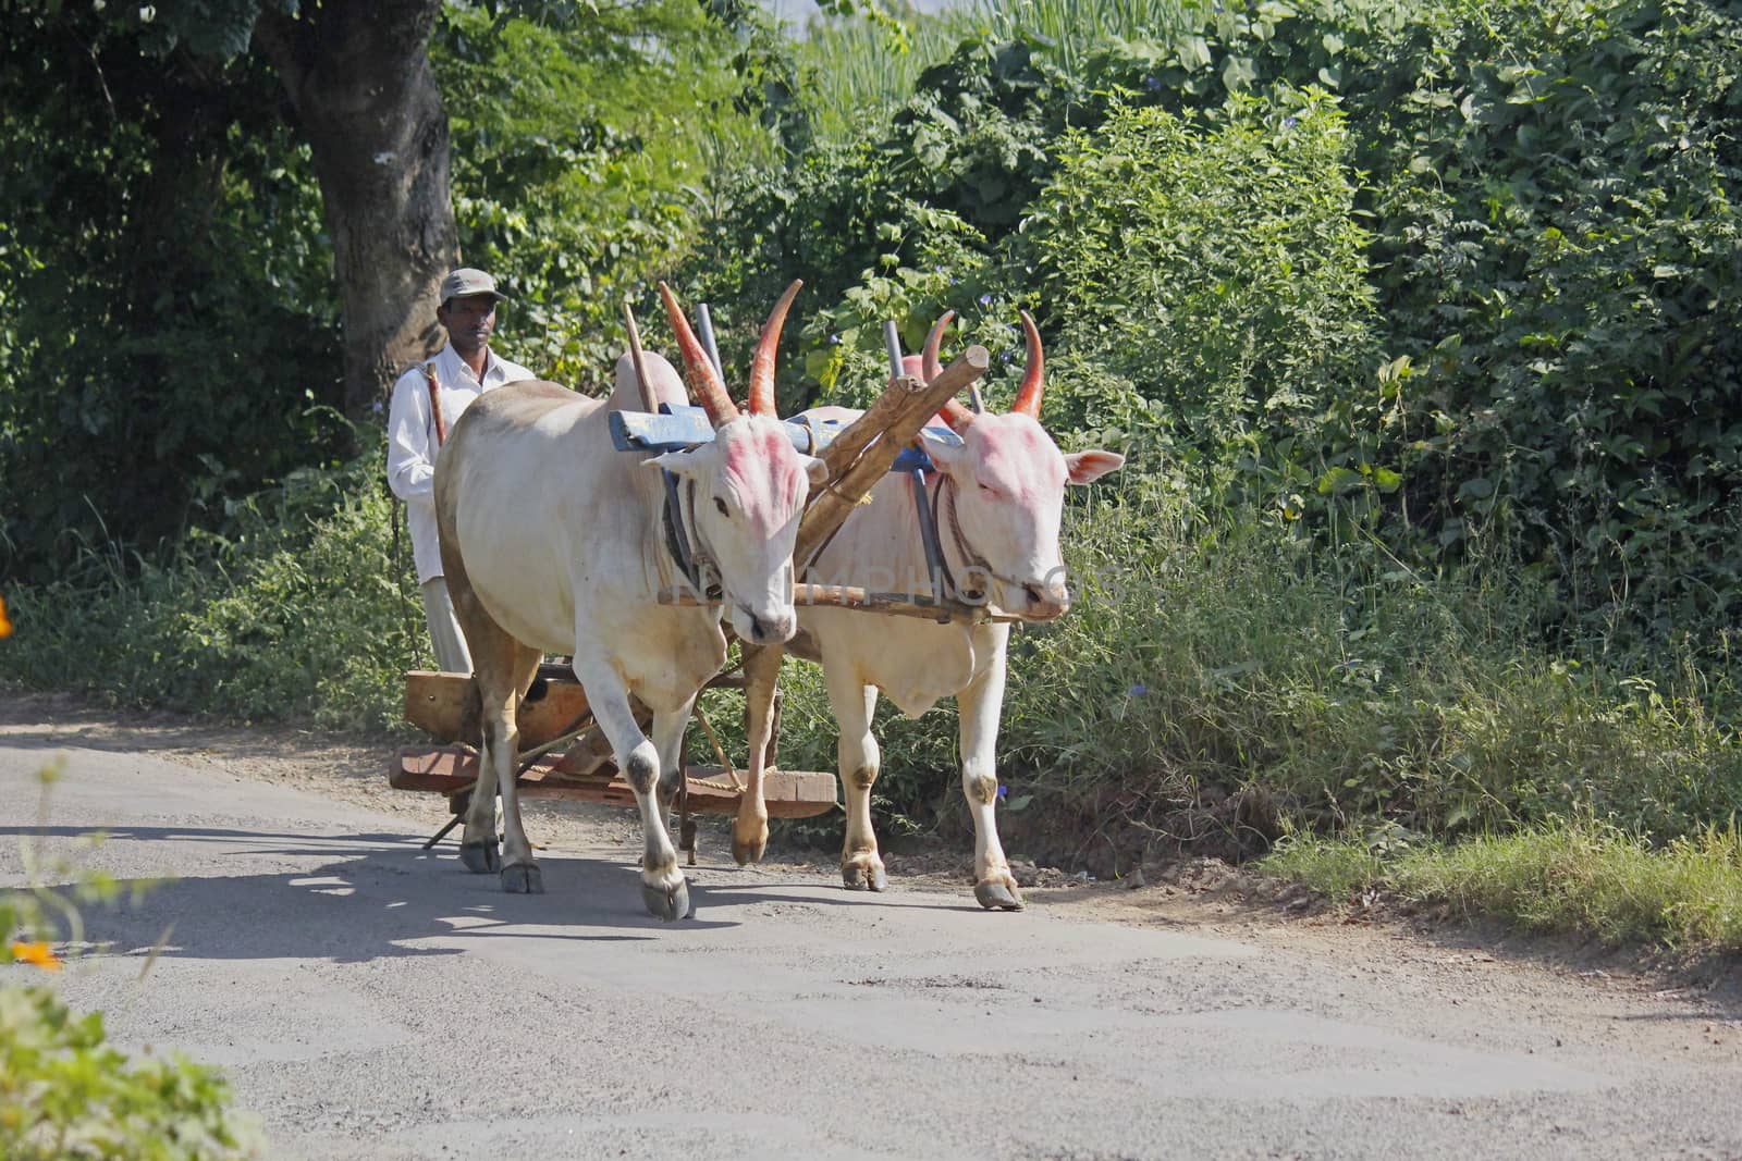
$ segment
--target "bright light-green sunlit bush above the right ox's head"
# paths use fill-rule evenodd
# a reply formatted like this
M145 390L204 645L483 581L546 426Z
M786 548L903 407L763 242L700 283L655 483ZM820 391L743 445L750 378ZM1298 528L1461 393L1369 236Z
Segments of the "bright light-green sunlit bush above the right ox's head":
M1239 99L1205 129L1115 108L1073 132L1024 223L1035 296L1071 359L1134 395L1090 413L1066 383L1049 421L1113 428L1138 468L1169 451L1305 460L1313 479L1348 423L1376 428L1378 400L1352 390L1376 364L1376 319L1348 150L1322 94Z

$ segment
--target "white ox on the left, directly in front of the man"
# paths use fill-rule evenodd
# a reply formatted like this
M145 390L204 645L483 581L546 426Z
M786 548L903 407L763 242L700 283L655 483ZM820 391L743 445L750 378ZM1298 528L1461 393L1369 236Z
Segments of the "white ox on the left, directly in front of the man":
M754 644L789 639L798 625L793 540L810 484L824 473L822 461L798 454L773 418L773 353L798 285L763 327L749 414L733 407L660 285L690 385L714 425L712 442L652 460L617 451L608 413L643 407L625 359L610 402L554 383L514 383L472 404L442 447L436 463L442 569L483 698L483 754L460 858L474 872L500 870L507 891L544 889L514 792L516 710L540 656L566 653L641 809L643 902L664 919L690 914L664 809L683 776L690 708L719 672L726 641L719 606L657 602L681 574L665 548L664 482L650 468L679 479L688 540L718 573L737 635ZM653 406L686 402L671 364L655 355L646 362ZM653 710L652 740L636 722L631 695Z

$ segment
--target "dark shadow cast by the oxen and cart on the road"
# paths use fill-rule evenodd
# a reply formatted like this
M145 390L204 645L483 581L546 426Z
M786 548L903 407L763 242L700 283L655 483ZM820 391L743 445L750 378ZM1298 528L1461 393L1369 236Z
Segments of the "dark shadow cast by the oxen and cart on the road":
M0 849L30 839L80 839L78 827L0 827ZM496 876L467 872L451 846L422 849L401 834L272 834L219 827L115 827L80 860L117 874L124 902L84 909L85 938L108 954L172 959L326 959L368 963L460 956L496 942L535 938L627 942L658 938L672 924L641 907L638 867L544 851L544 895L509 895ZM141 844L141 846L136 846ZM204 849L202 849L204 848ZM190 853L200 853L190 858ZM284 870L286 860L305 863ZM141 867L143 863L143 867ZM155 879L197 863L199 874ZM253 867L272 863L273 870ZM923 907L935 900L815 891L824 882L742 881L737 869L707 867L692 900L686 933L740 926L709 912L733 907ZM808 891L807 891L808 888ZM71 884L51 884L70 893ZM134 898L138 896L138 898ZM167 931L167 936L165 936Z

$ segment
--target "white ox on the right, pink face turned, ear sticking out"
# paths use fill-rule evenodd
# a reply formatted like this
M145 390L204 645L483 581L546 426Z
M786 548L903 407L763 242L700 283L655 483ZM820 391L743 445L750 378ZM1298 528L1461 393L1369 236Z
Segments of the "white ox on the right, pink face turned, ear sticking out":
M927 336L922 364L927 379L939 372L937 345L953 317L944 315ZM1002 416L974 414L955 402L944 407L944 419L963 444L927 446L937 466L928 491L935 496L939 543L949 574L965 588L977 587L996 607L1030 621L1047 621L1070 607L1059 555L1064 486L1090 484L1117 470L1125 458L1110 451L1066 456L1052 442L1038 419L1045 371L1040 334L1026 312L1023 327L1028 334L1028 367L1016 402ZM845 419L859 413L824 407L810 414ZM918 594L930 592L927 578L911 482L901 475L887 475L871 489L869 503L848 515L807 574L819 583ZM974 815L974 898L981 907L1019 910L1023 893L1010 876L995 820L995 750L1010 625L939 625L803 604L798 623L800 635L791 651L822 663L829 705L841 731L838 755L847 802L841 879L847 886L871 891L885 886L883 860L871 830L871 787L880 766L871 714L878 691L909 717L955 695L962 790ZM770 733L773 674L768 661L773 654L746 649L751 771L732 825L732 853L740 863L761 858L768 841L761 773Z

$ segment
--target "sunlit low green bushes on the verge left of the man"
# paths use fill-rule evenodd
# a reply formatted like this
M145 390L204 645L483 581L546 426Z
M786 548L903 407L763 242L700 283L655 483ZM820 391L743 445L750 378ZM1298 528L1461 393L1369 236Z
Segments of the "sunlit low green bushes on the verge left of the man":
M404 670L430 665L394 520L380 453L293 472L167 564L94 550L84 573L16 590L0 674L127 705L392 729Z

